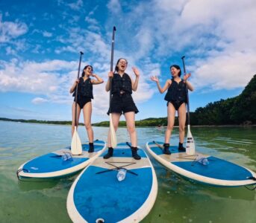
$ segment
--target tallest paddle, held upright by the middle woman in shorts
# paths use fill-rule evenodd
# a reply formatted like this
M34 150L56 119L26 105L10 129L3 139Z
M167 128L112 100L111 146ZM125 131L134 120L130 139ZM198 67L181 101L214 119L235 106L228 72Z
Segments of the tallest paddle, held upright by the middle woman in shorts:
M113 27L113 34L112 34L112 47L111 47L111 62L110 62L110 71L113 71L113 48L115 45L115 33L116 33L116 27ZM112 114L111 114L111 100L112 100L112 95L111 95L111 80L112 77L110 77L110 141L111 141L111 146L114 148L116 147L116 131L113 127L113 120L112 120Z

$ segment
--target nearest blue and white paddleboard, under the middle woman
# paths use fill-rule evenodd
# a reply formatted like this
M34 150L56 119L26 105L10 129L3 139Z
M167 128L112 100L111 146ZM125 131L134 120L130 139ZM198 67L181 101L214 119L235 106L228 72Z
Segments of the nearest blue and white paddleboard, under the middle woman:
M147 216L157 197L157 178L146 152L137 152L138 161L126 143L119 143L112 158L104 159L104 152L81 172L66 203L72 222L140 222Z

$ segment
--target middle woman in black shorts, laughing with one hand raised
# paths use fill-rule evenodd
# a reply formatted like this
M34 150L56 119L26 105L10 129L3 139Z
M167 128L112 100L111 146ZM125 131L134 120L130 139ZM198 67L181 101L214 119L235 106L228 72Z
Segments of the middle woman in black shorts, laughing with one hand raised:
M139 111L135 106L134 100L131 97L132 91L137 91L140 72L137 68L132 68L135 74L135 81L125 73L128 62L126 59L120 58L116 62L115 72L108 73L108 80L106 85L106 91L110 91L110 77L111 79L111 111L108 110L107 114L112 114L113 127L115 131L118 128L121 114L125 115L126 126L131 138L131 152L132 157L136 160L140 160L140 155L137 154L137 133L135 130L135 114ZM108 152L104 155L104 159L108 159L113 156L113 147L110 143L110 133L107 138Z

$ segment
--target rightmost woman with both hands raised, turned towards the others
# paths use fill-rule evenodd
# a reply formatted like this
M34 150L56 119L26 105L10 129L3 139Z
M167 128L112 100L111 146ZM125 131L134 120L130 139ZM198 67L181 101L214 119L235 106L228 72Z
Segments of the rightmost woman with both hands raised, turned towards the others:
M167 89L167 94L164 100L167 101L167 117L168 124L165 135L165 142L163 144L163 153L170 155L169 152L169 139L172 134L172 129L175 122L175 111L178 111L178 125L179 125L179 144L178 150L180 152L186 152L183 146L186 124L186 103L187 103L187 88L193 91L193 86L187 81L191 74L185 74L181 79L181 68L178 65L172 65L170 67L172 74L172 80L166 80L165 85L161 88L158 78L151 77L151 80L157 83L157 88L161 94Z

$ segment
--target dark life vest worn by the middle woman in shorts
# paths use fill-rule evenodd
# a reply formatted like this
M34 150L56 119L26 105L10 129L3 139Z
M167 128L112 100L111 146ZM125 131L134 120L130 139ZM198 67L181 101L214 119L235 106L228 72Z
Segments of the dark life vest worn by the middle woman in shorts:
M113 74L111 81L111 94L120 94L120 91L132 94L131 78L128 74L123 74L122 77L119 74Z

